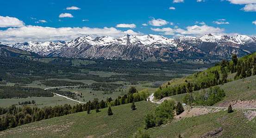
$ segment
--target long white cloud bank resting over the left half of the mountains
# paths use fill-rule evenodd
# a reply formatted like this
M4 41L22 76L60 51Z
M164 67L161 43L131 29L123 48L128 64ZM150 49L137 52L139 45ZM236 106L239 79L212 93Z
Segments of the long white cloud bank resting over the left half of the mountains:
M72 40L79 36L91 35L104 36L109 35L112 37L122 37L126 34L129 35L143 35L134 32L131 29L121 31L116 28L89 28L89 27L42 27L42 26L22 26L19 28L8 28L0 30L0 41L8 42L25 42L25 41L56 41L56 40Z

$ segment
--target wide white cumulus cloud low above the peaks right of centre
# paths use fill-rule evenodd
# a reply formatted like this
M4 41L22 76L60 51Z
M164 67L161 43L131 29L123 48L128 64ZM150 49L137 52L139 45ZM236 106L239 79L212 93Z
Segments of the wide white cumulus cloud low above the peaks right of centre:
M211 34L220 34L224 33L225 29L220 29L220 28L215 28L212 26L207 26L207 25L194 25L194 26L187 26L186 29L172 29L172 28L156 28L151 30L156 31L156 32L162 32L163 35L193 35L193 36L202 36L208 33Z

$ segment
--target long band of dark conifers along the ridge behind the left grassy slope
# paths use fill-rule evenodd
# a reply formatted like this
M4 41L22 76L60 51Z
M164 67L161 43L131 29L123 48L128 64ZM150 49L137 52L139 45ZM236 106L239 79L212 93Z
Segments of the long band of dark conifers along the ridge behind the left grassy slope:
M94 98L92 102L89 101L86 104L76 104L73 107L71 107L70 104L64 104L63 106L57 105L54 107L45 106L41 109L37 108L37 106L31 108L30 106L26 105L17 108L14 104L8 108L0 107L0 131L35 121L41 121L62 115L74 114L82 111L87 111L89 114L91 110L95 109L96 112L100 112L99 109L106 107L110 108L111 106L118 106L121 104L134 103L143 100L146 101L148 96L149 91L147 89L138 92L135 87L131 87L129 92L122 97L119 96L115 99L106 98L106 101L99 101L98 98ZM33 103L34 102L35 101L33 101Z

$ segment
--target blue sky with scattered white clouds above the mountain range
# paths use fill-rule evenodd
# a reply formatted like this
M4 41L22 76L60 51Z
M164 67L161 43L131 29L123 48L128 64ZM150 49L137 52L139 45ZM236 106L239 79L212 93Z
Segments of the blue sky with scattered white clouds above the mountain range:
M4 0L0 41L83 35L256 36L256 0Z

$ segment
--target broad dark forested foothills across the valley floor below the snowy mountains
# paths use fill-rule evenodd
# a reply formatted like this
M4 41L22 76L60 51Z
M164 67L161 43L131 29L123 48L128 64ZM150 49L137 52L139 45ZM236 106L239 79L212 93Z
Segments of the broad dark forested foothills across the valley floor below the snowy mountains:
M170 78L192 74L195 72L194 69L211 66L211 64L200 63L143 62L141 60L108 59L79 59L79 61L90 61L91 63L73 66L72 64L62 62L72 62L78 59L54 57L54 60L52 60L52 57L25 57L0 56L0 78L6 82L20 84L29 84L32 81L45 81L46 79L52 78L93 80L97 82L168 81ZM36 58L37 60L34 60ZM49 59L48 61L48 58L51 60ZM89 70L119 74L111 75L110 77L100 77L99 75L88 74Z

